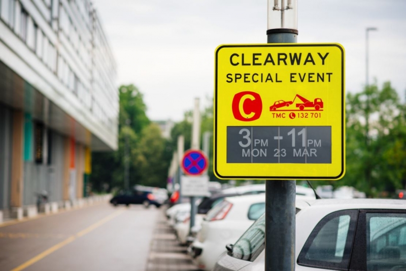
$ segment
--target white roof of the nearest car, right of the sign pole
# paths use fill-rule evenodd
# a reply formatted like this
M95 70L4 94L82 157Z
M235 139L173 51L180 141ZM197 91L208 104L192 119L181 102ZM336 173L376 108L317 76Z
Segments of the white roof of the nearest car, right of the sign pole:
M322 198L307 200L312 207L331 207L338 206L341 209L406 209L406 201L401 199L383 199L383 198Z

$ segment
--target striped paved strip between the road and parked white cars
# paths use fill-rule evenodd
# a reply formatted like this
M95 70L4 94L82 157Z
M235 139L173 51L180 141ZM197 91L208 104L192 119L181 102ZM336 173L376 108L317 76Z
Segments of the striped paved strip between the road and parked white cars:
M168 224L165 208L159 210L157 223L150 245L146 271L197 271L192 259L186 253L187 247L180 246L175 230Z

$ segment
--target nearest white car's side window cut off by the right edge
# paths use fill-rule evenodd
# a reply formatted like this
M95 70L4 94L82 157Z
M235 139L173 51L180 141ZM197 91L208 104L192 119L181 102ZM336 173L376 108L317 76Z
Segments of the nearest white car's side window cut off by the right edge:
M406 214L366 214L366 268L406 270Z

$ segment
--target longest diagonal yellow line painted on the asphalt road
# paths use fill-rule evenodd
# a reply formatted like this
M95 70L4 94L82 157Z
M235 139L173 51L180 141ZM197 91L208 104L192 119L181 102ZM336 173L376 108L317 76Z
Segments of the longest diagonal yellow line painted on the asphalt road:
M84 230L79 231L78 233L70 236L69 238L63 240L62 242L56 244L55 246L45 250L44 252L41 252L40 254L38 254L35 257L32 257L31 259L27 260L26 262L24 262L23 264L15 267L14 269L12 269L11 271L20 271L23 270L25 268L27 268L28 266L38 262L39 260L45 258L46 256L48 256L49 254L57 251L58 249L66 246L67 244L72 243L73 241L75 241L76 239L80 238L81 236L85 235L86 233L89 233L90 231L96 229L97 227L103 225L104 223L112 220L113 218L115 218L116 216L120 215L121 213L123 213L123 210L120 211L116 211L113 214L110 214L109 216L97 221L96 223L90 225L89 227L85 228Z

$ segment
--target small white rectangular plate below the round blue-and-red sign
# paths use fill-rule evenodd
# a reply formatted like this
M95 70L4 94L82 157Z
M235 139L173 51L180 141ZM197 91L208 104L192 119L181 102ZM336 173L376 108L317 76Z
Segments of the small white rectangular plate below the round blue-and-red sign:
M209 194L209 176L182 176L182 196L207 196Z

